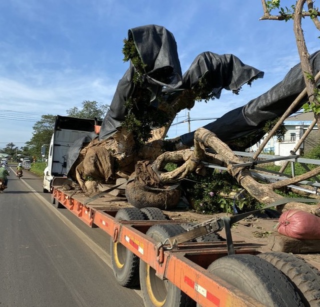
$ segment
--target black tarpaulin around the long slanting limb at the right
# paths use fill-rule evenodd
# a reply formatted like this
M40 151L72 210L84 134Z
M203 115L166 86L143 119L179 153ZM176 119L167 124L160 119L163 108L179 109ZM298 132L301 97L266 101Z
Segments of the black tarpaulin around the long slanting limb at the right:
M320 51L310 56L310 64L313 74L317 74L320 68ZM223 142L254 135L268 120L282 116L294 99L305 88L300 63L296 64L286 74L284 79L273 86L264 94L252 99L246 105L231 110L212 123L204 126L205 129L215 133ZM298 111L306 102L307 97L292 112ZM243 145L243 149L256 143L264 132L258 132L254 138ZM180 136L181 142L187 146L193 145L194 131Z

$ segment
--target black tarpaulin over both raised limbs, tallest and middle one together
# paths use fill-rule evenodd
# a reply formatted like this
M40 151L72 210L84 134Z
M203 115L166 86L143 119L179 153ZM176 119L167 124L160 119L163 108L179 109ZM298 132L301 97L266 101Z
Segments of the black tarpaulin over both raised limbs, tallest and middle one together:
M141 87L151 93L150 104L156 106L156 99L172 101L185 89L192 89L205 76L216 98L222 89L238 90L243 84L262 78L263 72L243 64L233 55L217 55L212 52L199 54L190 68L181 76L177 47L172 33L165 28L148 25L130 29L128 38L132 39L146 65ZM118 82L110 109L104 117L99 139L112 136L125 119L125 102L137 91L132 78L135 68L130 64ZM183 78L183 80L182 80ZM167 94L168 93L168 94ZM143 110L142 110L143 111Z

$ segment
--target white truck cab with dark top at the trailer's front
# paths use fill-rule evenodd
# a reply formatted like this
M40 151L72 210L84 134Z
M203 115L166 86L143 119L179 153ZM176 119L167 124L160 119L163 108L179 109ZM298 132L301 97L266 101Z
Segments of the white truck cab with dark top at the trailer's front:
M66 158L73 143L90 132L95 131L97 121L68 116L55 118L54 131L47 153L47 166L43 172L43 193L51 192L51 182L54 177L66 176ZM45 157L47 145L42 145L41 155Z

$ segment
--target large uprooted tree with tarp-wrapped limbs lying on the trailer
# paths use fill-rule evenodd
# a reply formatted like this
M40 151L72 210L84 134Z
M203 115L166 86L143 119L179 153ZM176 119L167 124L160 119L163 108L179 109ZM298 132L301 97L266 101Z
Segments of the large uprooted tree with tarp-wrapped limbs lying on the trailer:
M307 15L302 13L304 3L297 1L290 13L299 43L304 42L299 31L299 21ZM270 15L272 9L279 8L279 1L262 1L262 5L261 19L287 18L283 18L283 11L278 18ZM318 12L313 3L307 1L307 6L316 20ZM117 85L99 135L79 140L80 149L68 154L68 177L77 181L86 194L98 191L100 183L113 184L117 178L126 178L126 196L131 204L170 208L179 198L179 181L191 172L203 173L203 161L210 161L226 166L230 175L263 204L281 202L283 197L275 189L310 178L320 169L285 181L259 183L247 167L232 166L243 162L232 150L245 150L265 134L267 122L279 117L283 121L302 106L311 108L317 118L320 95L313 76L320 70L320 52L308 56L306 48L300 52L301 48L298 46L301 63L269 91L195 132L165 141L180 110L192 108L197 100L218 99L223 89L238 93L244 84L262 78L263 72L243 64L234 55L204 52L182 75L172 33L156 25L130 29L123 47L124 60L130 61L130 66ZM300 95L305 87L307 95ZM168 162L178 167L166 172ZM319 214L318 207L283 201L277 208Z

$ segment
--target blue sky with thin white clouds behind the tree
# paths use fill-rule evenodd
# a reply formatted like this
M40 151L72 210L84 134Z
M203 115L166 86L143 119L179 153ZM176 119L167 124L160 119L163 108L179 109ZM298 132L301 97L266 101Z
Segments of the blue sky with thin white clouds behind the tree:
M204 51L233 54L264 72L237 96L223 91L220 99L196 102L191 130L209 122L194 119L220 117L266 92L299 62L292 21L259 21L257 0L6 0L0 12L0 148L24 146L42 114L66 115L84 100L110 104L129 66L123 39L134 27L172 32L182 73ZM309 53L318 50L318 31L309 19L302 26ZM187 129L172 125L168 136Z

